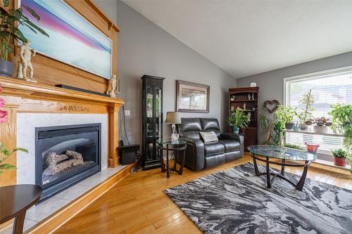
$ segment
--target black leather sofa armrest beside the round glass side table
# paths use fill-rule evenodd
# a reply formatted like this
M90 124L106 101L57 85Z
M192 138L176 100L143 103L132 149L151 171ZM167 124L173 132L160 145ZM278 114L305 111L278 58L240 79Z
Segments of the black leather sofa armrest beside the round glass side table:
M191 169L199 171L204 168L204 143L200 139L181 137L187 142L186 159L184 164Z

